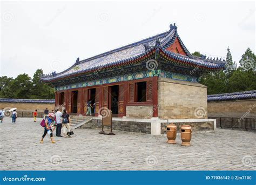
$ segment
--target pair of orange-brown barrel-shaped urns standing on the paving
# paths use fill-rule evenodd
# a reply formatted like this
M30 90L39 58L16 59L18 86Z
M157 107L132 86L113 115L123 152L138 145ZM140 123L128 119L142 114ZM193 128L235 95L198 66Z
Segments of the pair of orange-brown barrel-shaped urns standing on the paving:
M167 143L175 144L176 135L177 135L177 126L174 124L167 125ZM181 145L182 146L191 146L191 136L192 136L192 129L190 125L182 125L180 128L180 136L181 136Z

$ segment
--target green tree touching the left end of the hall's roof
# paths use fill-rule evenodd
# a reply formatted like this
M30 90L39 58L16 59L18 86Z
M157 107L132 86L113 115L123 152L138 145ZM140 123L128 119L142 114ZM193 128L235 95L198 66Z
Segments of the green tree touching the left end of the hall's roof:
M33 75L32 83L33 88L31 92L32 99L54 99L55 89L49 84L45 84L40 80L43 75L43 70L36 70Z

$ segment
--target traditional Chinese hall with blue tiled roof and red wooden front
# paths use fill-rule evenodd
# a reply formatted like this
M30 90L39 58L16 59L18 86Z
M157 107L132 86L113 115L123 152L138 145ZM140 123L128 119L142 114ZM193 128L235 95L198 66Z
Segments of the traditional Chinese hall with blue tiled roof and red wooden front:
M101 108L107 107L116 128L159 135L167 120L213 129L213 120L207 119L207 87L198 81L204 73L224 67L225 61L218 58L192 56L171 24L156 36L77 58L68 69L42 80L55 86L55 106L64 106L73 115L85 115L91 99L96 122ZM138 124L142 122L144 126Z

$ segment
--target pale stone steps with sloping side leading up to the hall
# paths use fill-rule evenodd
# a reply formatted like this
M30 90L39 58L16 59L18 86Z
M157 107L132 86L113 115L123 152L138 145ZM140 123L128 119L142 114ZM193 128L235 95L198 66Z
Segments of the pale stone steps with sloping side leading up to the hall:
M92 120L92 117L85 117L81 115L71 115L70 120L71 120L70 128L72 129L91 128L88 123Z

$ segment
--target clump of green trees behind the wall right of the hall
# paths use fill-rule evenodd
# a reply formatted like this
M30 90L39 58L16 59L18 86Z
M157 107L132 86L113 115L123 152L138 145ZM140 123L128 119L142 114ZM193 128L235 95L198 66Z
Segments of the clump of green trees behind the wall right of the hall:
M207 73L199 83L207 86L207 94L256 90L255 54L250 48L242 54L239 64L237 68L228 47L225 71Z

